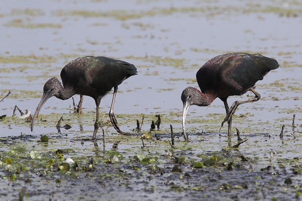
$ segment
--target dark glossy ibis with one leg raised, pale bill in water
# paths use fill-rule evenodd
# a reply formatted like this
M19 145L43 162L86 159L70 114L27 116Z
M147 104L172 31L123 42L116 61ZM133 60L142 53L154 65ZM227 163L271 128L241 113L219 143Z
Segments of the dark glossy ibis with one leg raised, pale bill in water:
M260 94L254 89L255 83L262 80L270 70L278 67L275 59L261 54L238 52L219 55L207 61L196 73L201 91L189 86L181 94L184 107L182 127L185 140L188 140L188 135L185 133L185 120L189 107L192 105L208 106L216 97L222 100L226 112L221 127L224 122L228 122L228 136L230 136L232 115L237 107L241 104L258 101ZM232 95L242 95L247 91L252 91L255 97L236 101L229 110L226 99Z

